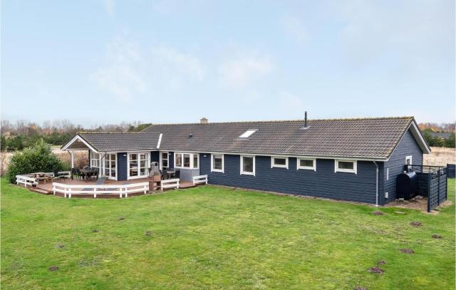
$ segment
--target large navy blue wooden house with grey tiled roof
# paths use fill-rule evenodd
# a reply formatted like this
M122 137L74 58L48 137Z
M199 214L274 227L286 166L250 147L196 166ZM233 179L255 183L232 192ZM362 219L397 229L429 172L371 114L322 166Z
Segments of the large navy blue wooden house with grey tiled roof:
M150 125L140 133L78 133L63 146L89 150L114 180L147 177L150 162L182 180L336 200L395 200L404 165L430 148L413 117Z

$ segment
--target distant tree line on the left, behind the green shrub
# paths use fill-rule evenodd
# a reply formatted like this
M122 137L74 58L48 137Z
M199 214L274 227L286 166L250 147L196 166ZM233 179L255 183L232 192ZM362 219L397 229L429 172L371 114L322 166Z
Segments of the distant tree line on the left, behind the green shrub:
M11 123L9 120L1 120L0 147L2 151L23 150L40 140L51 145L64 145L78 132L139 132L147 128L148 125L150 124L136 121L84 128L81 125L71 123L69 120L45 121L42 124L28 120L17 120L15 123Z

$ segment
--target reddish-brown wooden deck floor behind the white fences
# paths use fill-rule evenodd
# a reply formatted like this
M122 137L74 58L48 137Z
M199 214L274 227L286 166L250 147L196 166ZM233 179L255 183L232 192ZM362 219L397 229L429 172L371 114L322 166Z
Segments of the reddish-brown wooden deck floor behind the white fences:
M95 185L96 180L89 180L88 182L83 181L83 180L71 180L69 178L65 179L60 179L60 180L54 180L54 182L58 183L63 183L66 185ZM142 182L149 182L149 178L139 178L136 180L123 180L123 181L117 181L117 180L106 180L103 182L103 185L133 185L135 183L142 183ZM197 185L193 185L193 182L186 181L186 180L180 180L180 185L179 187L181 189L183 188L190 188L190 187L196 187ZM30 190L33 192L38 192L43 195L51 195L52 192L52 182L40 182L36 187L30 187Z

